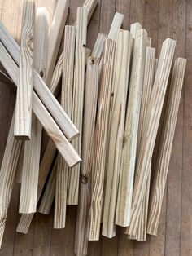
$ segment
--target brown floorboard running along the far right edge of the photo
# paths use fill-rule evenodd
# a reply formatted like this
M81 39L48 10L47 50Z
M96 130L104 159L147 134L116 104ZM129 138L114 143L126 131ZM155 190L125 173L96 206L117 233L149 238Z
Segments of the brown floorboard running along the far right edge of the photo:
M184 89L184 148L182 173L182 213L181 213L181 256L192 254L192 2L186 1L186 41L185 57L187 68Z

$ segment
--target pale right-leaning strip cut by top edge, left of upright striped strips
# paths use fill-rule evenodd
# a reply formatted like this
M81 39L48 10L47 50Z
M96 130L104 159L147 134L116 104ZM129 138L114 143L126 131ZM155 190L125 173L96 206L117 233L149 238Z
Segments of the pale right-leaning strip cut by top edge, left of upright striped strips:
M63 29L68 16L69 0L59 0L55 9L52 25L50 28L46 82L50 85L52 74L55 68Z

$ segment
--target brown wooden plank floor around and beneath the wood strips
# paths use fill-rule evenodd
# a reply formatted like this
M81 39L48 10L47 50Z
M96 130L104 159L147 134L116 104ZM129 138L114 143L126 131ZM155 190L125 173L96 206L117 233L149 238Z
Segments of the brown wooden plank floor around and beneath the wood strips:
M40 5L55 9L55 0L39 0ZM68 23L76 20L76 7L83 0L72 0ZM2 22L20 42L23 0L0 0ZM98 0L97 10L89 24L88 46L94 45L98 31L108 33L115 11L124 14L124 29L139 21L157 49L165 38L177 40L175 57L188 59L185 87L177 120L176 135L168 170L159 236L146 242L129 241L119 230L111 240L101 237L89 243L89 256L191 256L192 255L192 1L191 0ZM0 84L0 162L7 140L7 131L15 104L15 92ZM158 143L157 143L158 144ZM156 147L155 152L158 150ZM7 218L7 228L0 256L71 256L73 254L76 207L68 208L67 227L54 230L53 211L50 216L37 214L28 235L15 232L20 185L15 184Z

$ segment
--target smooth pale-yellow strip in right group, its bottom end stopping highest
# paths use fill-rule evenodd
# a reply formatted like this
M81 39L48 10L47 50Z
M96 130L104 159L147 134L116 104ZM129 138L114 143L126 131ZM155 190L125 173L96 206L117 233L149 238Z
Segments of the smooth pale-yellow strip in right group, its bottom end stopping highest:
M146 40L146 30L137 30L133 48L133 64L124 128L122 161L120 166L120 190L118 192L118 223L122 227L128 227L130 222L133 179L137 152L137 130L139 124L142 82L146 55Z

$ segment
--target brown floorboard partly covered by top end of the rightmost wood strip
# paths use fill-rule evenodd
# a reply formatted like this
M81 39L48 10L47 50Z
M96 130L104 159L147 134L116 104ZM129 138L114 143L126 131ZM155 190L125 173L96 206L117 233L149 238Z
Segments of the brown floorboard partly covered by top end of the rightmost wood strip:
M185 56L185 1L173 1L172 38L177 41L175 57ZM180 255L181 239L181 183L183 154L183 104L177 117L177 126L172 145L172 156L168 168L167 224L166 224L166 256Z

